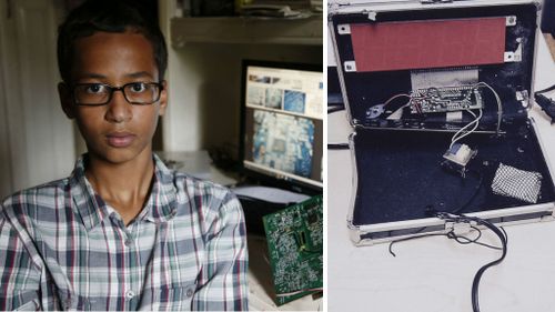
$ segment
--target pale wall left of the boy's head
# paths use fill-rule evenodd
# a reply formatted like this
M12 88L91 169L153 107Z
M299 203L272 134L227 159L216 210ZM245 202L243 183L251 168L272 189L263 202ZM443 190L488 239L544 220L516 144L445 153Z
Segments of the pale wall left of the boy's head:
M22 188L67 177L74 162L74 135L58 99L56 60L61 0L1 1L0 152L11 169L6 195ZM11 8L8 8L8 3ZM3 132L3 135L2 135ZM9 150L9 154L8 154Z

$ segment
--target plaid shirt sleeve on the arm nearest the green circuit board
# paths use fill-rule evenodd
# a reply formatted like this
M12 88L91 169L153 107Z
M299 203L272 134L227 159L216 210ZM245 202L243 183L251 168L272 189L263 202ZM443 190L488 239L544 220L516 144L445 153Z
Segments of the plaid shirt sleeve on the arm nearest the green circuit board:
M206 231L205 256L192 309L246 311L248 250L243 211L230 191Z

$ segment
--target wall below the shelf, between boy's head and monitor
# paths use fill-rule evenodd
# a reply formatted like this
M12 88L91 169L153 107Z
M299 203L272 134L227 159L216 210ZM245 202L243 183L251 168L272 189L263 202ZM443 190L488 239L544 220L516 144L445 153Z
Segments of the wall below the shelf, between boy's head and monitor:
M172 47L174 1L160 1L160 24L169 47L169 108L162 119L168 151L238 144L241 60L322 63L322 46L185 43Z

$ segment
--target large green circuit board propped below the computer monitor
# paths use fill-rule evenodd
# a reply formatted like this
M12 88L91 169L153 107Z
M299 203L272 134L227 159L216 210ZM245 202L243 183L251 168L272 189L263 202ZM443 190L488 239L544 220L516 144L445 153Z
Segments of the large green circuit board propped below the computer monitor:
M282 305L323 288L323 202L317 195L264 215L275 303Z

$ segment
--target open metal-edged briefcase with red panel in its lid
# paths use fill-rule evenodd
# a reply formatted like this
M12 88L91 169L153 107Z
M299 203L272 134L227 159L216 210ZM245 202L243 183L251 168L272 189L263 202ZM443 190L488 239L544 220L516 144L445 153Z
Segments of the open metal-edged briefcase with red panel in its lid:
M553 220L553 170L528 115L536 1L341 1L329 28L353 133L355 244Z

